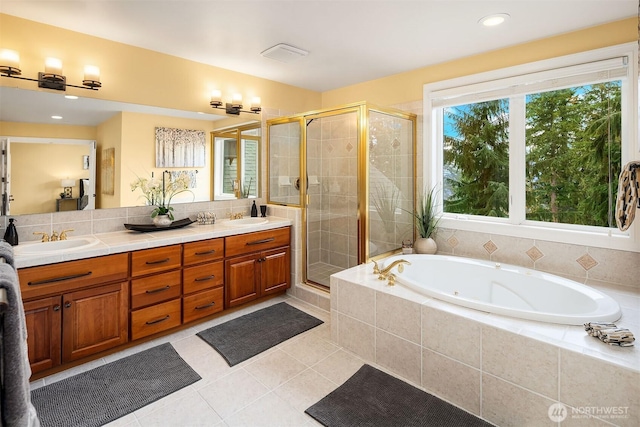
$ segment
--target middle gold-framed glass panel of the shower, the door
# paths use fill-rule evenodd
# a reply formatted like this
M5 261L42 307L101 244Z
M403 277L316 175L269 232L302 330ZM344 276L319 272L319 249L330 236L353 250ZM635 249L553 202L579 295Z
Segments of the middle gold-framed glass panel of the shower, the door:
M306 118L307 282L358 264L358 114Z

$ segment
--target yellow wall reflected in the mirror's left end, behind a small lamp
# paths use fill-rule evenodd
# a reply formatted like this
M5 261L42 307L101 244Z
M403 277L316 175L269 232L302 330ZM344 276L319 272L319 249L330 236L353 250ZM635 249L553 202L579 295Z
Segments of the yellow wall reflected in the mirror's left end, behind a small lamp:
M11 144L11 214L55 212L62 179L76 181L72 191L78 197L78 179L89 177L89 171L82 168L82 157L88 154L86 145ZM43 164L47 168L40 167ZM40 172L33 173L35 170Z

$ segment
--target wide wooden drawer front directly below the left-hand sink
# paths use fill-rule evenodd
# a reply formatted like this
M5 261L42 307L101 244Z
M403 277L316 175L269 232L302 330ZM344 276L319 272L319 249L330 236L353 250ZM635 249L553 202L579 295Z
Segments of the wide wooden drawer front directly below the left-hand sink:
M61 262L18 269L20 292L25 300L68 292L127 278L129 254Z

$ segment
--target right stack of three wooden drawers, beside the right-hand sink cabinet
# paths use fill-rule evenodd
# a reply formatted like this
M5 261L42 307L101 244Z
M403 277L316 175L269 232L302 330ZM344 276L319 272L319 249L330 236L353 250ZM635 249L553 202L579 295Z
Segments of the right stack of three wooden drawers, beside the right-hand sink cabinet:
M224 309L224 238L183 246L182 321L188 323Z

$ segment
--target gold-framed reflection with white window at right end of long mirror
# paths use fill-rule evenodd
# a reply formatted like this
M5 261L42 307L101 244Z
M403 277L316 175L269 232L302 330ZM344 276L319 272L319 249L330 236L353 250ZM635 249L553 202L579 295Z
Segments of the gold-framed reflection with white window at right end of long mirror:
M260 132L260 123L252 123L211 133L213 200L258 197Z

